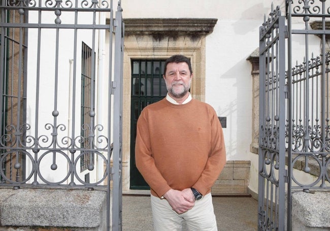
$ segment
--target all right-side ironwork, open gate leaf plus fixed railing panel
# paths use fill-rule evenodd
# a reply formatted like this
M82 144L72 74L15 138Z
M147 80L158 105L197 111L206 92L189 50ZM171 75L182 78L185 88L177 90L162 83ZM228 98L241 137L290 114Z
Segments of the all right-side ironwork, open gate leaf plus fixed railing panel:
M286 0L260 27L258 230L291 230L292 192L330 188L329 2Z

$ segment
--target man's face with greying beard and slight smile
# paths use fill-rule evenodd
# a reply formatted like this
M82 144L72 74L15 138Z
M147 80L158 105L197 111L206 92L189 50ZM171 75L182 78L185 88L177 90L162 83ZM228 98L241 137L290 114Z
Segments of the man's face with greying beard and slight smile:
M163 78L169 94L174 98L185 96L190 88L192 76L186 62L168 63Z

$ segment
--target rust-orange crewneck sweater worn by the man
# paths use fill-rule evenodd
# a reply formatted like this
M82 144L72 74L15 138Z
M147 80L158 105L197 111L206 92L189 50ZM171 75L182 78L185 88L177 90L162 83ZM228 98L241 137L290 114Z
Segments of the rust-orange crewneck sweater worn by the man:
M147 106L138 119L135 156L152 195L190 187L209 193L226 162L214 109L194 99L174 105L164 98Z

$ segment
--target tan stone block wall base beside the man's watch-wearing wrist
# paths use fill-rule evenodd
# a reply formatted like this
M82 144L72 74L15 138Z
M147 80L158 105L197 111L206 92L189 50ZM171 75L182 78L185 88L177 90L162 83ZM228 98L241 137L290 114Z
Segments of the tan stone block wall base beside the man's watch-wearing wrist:
M212 187L212 195L249 195L250 160L228 160Z

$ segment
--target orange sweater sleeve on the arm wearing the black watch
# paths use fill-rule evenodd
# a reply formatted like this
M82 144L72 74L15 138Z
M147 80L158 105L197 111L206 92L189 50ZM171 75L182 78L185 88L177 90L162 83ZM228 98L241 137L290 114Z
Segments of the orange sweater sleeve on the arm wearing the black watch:
M226 163L226 150L224 146L222 127L214 109L211 114L211 148L205 169L197 182L192 186L203 195L211 191L211 187L218 179Z

